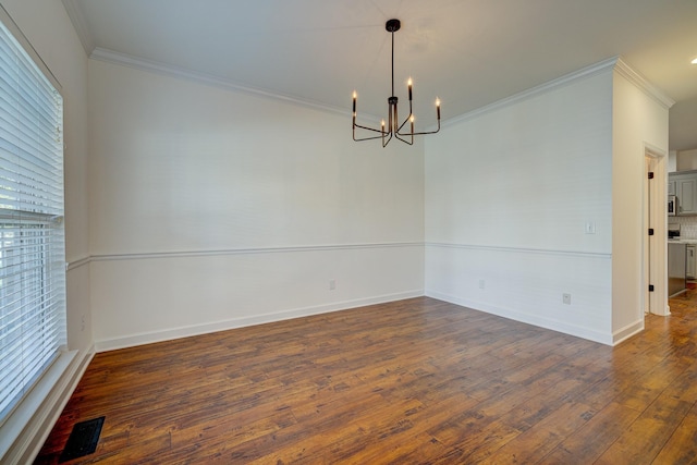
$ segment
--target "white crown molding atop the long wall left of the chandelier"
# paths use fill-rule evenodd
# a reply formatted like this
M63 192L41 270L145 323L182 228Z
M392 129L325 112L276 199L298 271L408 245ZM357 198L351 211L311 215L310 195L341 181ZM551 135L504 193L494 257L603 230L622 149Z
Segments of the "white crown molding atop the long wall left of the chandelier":
M160 63L152 60L146 60L144 58L134 57L126 53L120 53L113 50L103 49L97 47L89 54L89 58L97 61L103 61L107 63L120 64L124 66L134 68L140 71L147 71L150 73L161 74L170 77L182 78L192 81L199 84L206 84L213 87L219 87L227 90L236 93L248 94L257 97L265 97L274 100L281 100L289 103L297 105L301 107L310 108L314 110L320 110L329 113L341 114L350 117L352 113L350 109L333 107L326 103L320 103L315 100L303 99L290 95L274 93L271 90L249 87L235 82L223 79L210 74L198 73L196 71L187 70L184 68L173 66L170 64Z

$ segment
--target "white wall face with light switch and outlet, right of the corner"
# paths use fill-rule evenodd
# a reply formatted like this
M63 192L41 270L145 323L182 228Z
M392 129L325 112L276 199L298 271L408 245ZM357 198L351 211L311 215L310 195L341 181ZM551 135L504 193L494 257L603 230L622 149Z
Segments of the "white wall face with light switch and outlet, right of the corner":
M426 293L612 343L612 69L582 75L426 142Z

